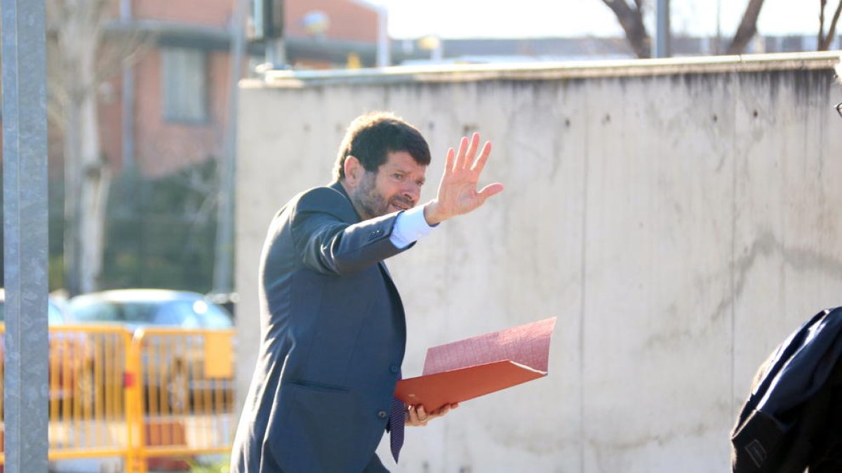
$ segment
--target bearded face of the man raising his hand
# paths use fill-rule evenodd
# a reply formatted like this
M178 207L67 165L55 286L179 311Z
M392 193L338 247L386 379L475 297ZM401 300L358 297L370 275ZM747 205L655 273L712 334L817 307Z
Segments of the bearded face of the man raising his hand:
M427 167L408 152L390 152L376 173L363 174L349 196L363 220L412 209L418 204L426 172Z

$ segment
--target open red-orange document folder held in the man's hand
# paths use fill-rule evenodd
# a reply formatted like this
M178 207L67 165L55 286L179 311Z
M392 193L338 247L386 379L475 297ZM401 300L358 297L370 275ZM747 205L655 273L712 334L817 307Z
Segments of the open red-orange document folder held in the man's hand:
M423 375L397 381L395 397L433 412L546 376L555 326L552 317L429 348Z

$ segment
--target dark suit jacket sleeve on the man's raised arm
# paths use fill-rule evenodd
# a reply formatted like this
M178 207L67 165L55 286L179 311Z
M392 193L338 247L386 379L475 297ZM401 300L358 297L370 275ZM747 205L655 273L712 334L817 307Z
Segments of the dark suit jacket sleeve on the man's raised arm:
M390 241L398 212L349 224L354 208L344 195L318 188L304 194L291 216L301 263L323 274L360 271L402 252ZM412 247L412 245L410 245Z

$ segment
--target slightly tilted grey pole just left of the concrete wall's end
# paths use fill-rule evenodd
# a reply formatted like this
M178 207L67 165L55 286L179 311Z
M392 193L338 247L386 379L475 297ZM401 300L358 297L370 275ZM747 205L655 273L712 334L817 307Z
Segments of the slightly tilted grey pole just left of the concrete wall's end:
M237 167L237 98L242 77L242 54L245 49L245 19L248 0L234 0L231 29L231 66L228 70L228 120L225 131L224 156L218 169L219 202L216 219L216 258L214 260L214 292L228 294L233 290L234 263L234 173Z

